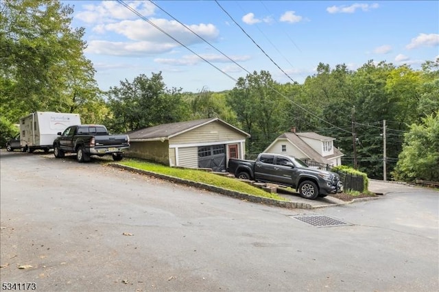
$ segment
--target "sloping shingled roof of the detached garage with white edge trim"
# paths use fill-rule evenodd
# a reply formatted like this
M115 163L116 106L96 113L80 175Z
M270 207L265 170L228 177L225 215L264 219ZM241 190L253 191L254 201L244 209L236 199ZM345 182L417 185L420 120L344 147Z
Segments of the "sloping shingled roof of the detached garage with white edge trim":
M237 127L226 123L218 118L211 119L200 119L195 121L182 121L178 123L165 123L163 125L156 125L154 127L145 127L140 130L135 130L132 132L128 132L128 136L130 136L130 140L132 141L157 141L157 140L168 140L174 136L183 134L187 131L193 130L197 127L201 127L202 125L206 125L208 123L218 122L224 125L225 127L229 127L236 132L241 133L243 136L247 138L250 137L250 134L239 130Z

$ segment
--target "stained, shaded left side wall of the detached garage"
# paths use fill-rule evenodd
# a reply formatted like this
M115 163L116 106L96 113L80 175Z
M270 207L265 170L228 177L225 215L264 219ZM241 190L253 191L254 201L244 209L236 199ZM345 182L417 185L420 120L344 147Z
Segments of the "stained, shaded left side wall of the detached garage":
M126 156L169 165L169 143L168 141L130 141L130 149L126 152Z

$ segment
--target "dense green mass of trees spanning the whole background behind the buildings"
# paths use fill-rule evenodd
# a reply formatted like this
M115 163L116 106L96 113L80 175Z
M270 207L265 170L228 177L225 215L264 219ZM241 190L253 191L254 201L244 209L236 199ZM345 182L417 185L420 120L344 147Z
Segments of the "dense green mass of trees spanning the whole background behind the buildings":
M76 112L83 123L105 123L112 132L219 117L251 134L248 158L294 126L336 138L344 165L356 160L369 178L383 178L385 120L388 173L439 180L439 60L416 70L372 60L354 71L320 63L303 84L279 84L268 71L254 71L221 93L169 89L159 72L102 93L83 54L84 29L71 28L72 13L57 0L1 1L2 145L19 117L37 110Z

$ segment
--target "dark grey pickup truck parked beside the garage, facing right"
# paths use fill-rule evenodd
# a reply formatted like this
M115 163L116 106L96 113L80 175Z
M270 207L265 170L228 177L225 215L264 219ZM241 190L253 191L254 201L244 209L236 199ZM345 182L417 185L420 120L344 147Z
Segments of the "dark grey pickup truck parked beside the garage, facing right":
M305 199L326 197L343 189L337 173L311 169L300 159L280 154L262 153L256 161L230 159L228 172L241 179L291 186Z

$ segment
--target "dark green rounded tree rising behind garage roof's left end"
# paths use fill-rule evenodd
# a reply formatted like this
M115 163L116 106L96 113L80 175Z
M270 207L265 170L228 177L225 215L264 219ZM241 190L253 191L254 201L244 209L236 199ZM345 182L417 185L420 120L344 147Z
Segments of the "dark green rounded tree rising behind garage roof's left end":
M115 132L127 132L162 123L185 121L189 117L181 89L167 89L160 73L151 77L141 74L132 82L121 81L107 93L112 111L109 127Z

